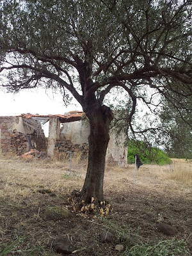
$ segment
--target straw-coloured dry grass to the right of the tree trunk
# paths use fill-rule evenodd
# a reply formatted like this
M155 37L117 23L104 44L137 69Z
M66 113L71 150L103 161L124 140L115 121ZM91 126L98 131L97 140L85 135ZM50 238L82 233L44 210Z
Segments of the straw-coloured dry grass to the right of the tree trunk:
M191 161L183 159L172 159L172 164L164 166L143 164L136 171L136 186L172 193L179 188L177 193L185 194L192 185L191 166ZM129 164L128 168L111 166L106 170L105 183L106 187L115 186L118 191L124 190L123 184L134 184L134 164Z

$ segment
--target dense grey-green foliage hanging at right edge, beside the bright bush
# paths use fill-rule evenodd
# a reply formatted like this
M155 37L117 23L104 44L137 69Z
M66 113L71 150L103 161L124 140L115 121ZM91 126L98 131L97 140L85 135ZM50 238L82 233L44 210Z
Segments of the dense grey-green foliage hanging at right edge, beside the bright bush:
M191 108L192 98L185 99L185 104L186 108ZM163 125L161 143L170 157L192 159L192 113L189 108L188 113L178 113L164 102L160 115Z

